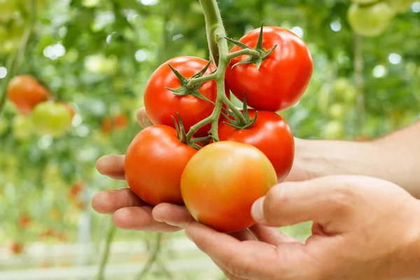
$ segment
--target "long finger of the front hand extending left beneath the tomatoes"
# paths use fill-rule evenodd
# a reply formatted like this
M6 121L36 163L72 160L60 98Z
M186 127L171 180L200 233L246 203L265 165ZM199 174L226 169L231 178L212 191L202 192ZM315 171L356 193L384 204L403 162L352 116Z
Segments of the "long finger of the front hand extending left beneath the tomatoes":
M275 279L289 258L277 261L279 252L272 245L259 241L239 241L235 237L212 230L200 223L191 223L186 235L225 271L239 279ZM290 253L290 250L286 250Z

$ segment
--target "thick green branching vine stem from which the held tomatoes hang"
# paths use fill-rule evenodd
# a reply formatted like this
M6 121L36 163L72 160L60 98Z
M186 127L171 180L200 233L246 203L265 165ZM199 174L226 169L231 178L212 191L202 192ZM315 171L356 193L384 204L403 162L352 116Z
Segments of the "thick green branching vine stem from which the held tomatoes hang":
M228 40L226 40L226 31L223 26L223 20L221 17L220 10L218 9L216 0L200 0L201 6L204 11L204 18L206 19L207 27L207 39L209 41L209 48L211 52L211 57L213 57L214 63L216 64L216 57L218 58L217 66L218 69L216 72L197 79L191 79L190 84L195 85L197 83L202 83L207 80L216 80L217 83L217 98L216 104L214 106L214 111L211 115L204 120L200 121L196 125L190 128L187 134L188 141L193 137L193 135L200 130L201 127L211 123L211 136L214 141L218 141L218 120L221 116L221 110L223 104L226 104L228 108L235 114L237 119L241 123L246 123L244 116L239 112L232 102L228 99L225 93L225 72L226 67L230 63L230 60L233 57L240 55L257 55L254 50L238 51L234 54L229 55L228 49ZM260 55L258 53L258 55Z

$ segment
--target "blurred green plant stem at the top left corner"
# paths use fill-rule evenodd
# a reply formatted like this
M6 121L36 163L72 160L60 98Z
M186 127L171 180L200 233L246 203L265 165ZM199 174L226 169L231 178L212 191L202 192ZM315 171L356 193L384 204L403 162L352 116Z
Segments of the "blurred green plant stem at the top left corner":
M28 45L29 37L31 36L32 31L34 30L35 21L36 21L36 6L38 0L31 1L31 17L29 22L27 22L27 26L25 27L25 31L23 32L22 38L20 40L20 45L18 50L15 52L13 59L10 60L10 63L7 67L7 76L4 78L3 83L0 88L0 116L3 111L4 105L6 104L6 96L7 96L7 86L10 82L10 79L13 78L15 75L15 71L19 69L20 64L22 63L22 59L25 57L25 51Z

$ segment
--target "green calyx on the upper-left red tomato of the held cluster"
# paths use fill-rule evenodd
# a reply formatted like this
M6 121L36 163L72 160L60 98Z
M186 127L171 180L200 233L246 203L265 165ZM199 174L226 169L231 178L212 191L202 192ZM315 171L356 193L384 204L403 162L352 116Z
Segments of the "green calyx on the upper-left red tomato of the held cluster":
M214 104L214 102L212 102L210 99L208 99L203 94L201 94L200 91L198 91L198 89L202 86L202 84L204 82L203 83L197 83L195 85L190 84L190 80L195 79L195 78L201 78L204 75L204 73L206 73L207 69L209 69L210 63L211 62L209 62L204 67L204 69L202 69L202 71L200 71L199 73L196 73L191 78L185 78L184 76L181 75L181 73L179 73L179 71L174 69L174 67L172 67L171 64L168 64L168 66L174 72L176 78L178 78L179 82L181 83L181 86L179 88L176 88L176 89L175 88L169 88L169 87L165 87L165 88L167 90L170 90L170 91L174 92L174 95L178 95L178 96L193 95L197 98L203 99L207 102L210 102L211 104Z

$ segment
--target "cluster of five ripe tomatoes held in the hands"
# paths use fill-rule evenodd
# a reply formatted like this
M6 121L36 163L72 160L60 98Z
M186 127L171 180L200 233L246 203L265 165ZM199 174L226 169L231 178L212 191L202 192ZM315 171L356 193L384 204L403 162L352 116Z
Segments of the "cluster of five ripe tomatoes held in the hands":
M295 143L276 112L297 103L314 68L307 45L281 27L230 41L232 57L241 48L260 55L230 61L221 72L225 92L218 91L220 80L205 80L218 74L216 66L198 57L170 59L151 75L144 100L154 125L137 134L125 155L125 178L141 200L186 205L196 221L221 232L251 227L253 202L288 176ZM242 110L232 107L230 92Z

